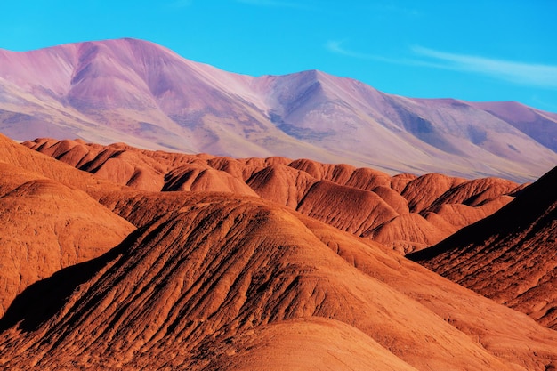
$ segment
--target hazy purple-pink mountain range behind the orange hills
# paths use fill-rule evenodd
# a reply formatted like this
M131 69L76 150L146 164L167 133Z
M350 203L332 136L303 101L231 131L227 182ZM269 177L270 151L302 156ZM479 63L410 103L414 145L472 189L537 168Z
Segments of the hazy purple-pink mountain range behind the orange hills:
M0 132L514 181L557 163L557 115L519 103L409 99L316 70L242 76L134 39L0 51Z

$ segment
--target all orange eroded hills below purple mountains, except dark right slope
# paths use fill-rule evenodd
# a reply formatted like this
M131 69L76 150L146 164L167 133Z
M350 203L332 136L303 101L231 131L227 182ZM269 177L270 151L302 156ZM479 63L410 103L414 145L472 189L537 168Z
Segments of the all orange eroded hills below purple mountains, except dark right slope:
M4 136L0 171L5 369L557 367L547 316L403 256L522 204L503 225L538 243L554 199L530 197L554 172L520 185ZM512 243L530 268L552 254ZM530 271L493 280L534 287Z

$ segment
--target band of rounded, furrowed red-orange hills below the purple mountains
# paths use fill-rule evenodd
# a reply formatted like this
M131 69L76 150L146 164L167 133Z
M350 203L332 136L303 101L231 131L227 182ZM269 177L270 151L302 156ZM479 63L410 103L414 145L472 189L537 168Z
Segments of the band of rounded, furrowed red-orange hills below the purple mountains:
M309 159L194 156L52 139L23 145L138 190L259 195L401 253L432 246L494 213L520 189L513 181L496 178L391 176Z

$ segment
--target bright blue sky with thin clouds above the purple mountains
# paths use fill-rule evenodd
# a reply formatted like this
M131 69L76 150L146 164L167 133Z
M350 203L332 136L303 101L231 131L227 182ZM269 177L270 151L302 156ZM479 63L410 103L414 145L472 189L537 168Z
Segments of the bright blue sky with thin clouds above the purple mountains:
M557 112L557 1L5 0L0 48L135 37L247 75L319 69L419 98Z

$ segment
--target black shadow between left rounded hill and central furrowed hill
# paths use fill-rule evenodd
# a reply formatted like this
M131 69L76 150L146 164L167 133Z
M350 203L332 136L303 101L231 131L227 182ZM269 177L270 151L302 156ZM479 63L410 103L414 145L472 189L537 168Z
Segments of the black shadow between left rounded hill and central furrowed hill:
M119 254L125 253L139 233L139 230L133 231L120 245L98 258L59 270L51 277L28 286L14 299L4 317L0 319L0 332L18 324L22 331L35 331L44 321L51 319L61 310L77 286L93 278Z

